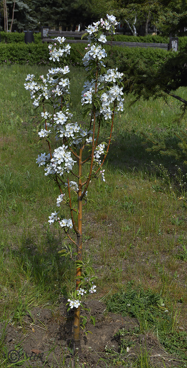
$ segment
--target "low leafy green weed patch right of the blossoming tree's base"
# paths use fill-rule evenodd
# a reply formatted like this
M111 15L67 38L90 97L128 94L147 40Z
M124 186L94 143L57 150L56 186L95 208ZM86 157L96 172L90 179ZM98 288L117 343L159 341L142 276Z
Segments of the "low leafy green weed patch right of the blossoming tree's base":
M119 347L125 354L127 347L132 345L132 336L151 332L168 353L187 360L187 333L178 329L180 309L174 310L166 305L161 293L142 288L137 290L129 287L108 299L109 311L120 313L122 316L129 315L139 321L132 331L122 329L116 334Z

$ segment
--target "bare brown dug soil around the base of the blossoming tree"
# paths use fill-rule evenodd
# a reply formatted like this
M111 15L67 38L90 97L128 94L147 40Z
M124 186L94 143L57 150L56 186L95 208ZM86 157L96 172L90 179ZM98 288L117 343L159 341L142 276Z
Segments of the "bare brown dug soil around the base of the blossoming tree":
M19 323L16 326L11 322L8 323L4 343L7 352L19 351L19 364L22 360L22 365L19 367L75 367L75 358L68 352L68 346L71 346L73 312L67 313L65 303L66 301L63 300L53 312L49 309L32 309L34 322L29 314L25 315L24 322L22 322L23 328ZM130 350L127 349L129 351L126 352L125 358L123 355L123 363L119 359L114 366L131 367L140 351L144 351L146 348L150 362L154 367L168 368L172 366L172 363L177 367L176 358L166 353L151 333L146 335L133 334L134 329L139 325L136 319L128 316L121 317L111 312L106 314L105 304L97 300L85 302L85 307L91 308L91 314L96 318L96 324L94 326L88 323L86 329L90 330L91 333L88 333L87 336L82 333L81 346L84 359L80 359L81 367L84 363L84 367L96 367L97 365L97 368L104 368L106 361L109 365L114 356L106 354L106 347L120 352L119 338L115 336L119 329L125 330L128 342L130 338ZM1 325L2 330L3 325ZM129 331L131 333L128 335ZM126 348L124 348L123 354L124 351ZM24 354L25 357L28 357L27 360L25 360ZM13 361L14 357L14 355L9 354L9 361Z

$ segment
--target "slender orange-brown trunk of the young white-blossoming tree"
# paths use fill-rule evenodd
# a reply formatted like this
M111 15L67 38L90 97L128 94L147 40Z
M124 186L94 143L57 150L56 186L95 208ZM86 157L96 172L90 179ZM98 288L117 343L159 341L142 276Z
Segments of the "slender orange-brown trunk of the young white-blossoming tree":
M78 231L77 234L77 260L82 261L82 199L80 196L82 194L82 148L79 150L79 189L78 189ZM79 277L81 276L82 268L78 267L76 269L76 290L79 289ZM73 321L73 345L79 356L82 355L82 350L80 346L80 305L74 310L74 321Z

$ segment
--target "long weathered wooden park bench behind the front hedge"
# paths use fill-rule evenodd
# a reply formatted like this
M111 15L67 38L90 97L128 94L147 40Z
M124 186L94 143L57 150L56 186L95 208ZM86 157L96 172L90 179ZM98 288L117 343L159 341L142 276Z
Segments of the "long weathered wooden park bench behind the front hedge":
M84 32L78 32L78 31L52 31L50 30L50 27L42 27L41 29L41 36L42 36L42 42L51 42L53 43L52 38L56 38L58 36L65 37L66 42L68 43L88 43L86 39L81 39ZM75 39L69 39L75 38ZM106 42L107 45L111 45L111 41ZM168 43L148 43L148 42L122 42L122 41L112 41L113 46L128 46L128 47L154 47L155 49L163 49L163 50L169 50L171 47L169 47L170 44Z

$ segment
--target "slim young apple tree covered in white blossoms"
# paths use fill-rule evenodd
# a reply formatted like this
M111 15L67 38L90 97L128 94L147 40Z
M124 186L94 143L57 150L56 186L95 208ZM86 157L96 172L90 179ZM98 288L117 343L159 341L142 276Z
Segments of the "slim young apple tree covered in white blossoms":
M69 67L65 63L71 47L65 44L64 37L55 38L53 45L48 46L50 60L58 65L48 71L47 78L28 74L25 83L33 105L41 113L43 128L38 133L39 139L46 141L48 146L48 153L40 153L36 163L44 167L44 175L53 180L60 191L56 204L58 210L51 213L48 222L57 223L72 243L61 251L62 255L70 255L72 259L76 256L76 286L67 304L68 310L74 309L73 344L79 351L81 298L96 292L93 269L82 261L83 206L86 205L92 178L100 176L105 181L103 164L111 143L114 118L123 111L123 74L118 72L118 68L106 70L104 65L107 39L103 32L114 34L116 25L115 17L107 14L106 20L89 25L84 34L88 45L82 59L86 79L81 103L83 120L87 119L89 123L80 127L73 120ZM105 139L107 143L100 139L101 124L110 126ZM87 171L83 171L84 165ZM69 219L64 218L62 205L69 207Z

